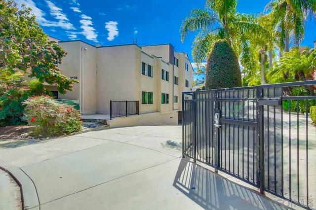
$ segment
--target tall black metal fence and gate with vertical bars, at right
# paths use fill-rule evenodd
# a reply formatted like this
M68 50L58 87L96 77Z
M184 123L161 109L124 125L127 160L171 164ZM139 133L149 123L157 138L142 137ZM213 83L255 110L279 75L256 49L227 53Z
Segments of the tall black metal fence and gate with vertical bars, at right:
M316 81L184 92L184 156L314 209ZM292 96L295 93L299 96Z

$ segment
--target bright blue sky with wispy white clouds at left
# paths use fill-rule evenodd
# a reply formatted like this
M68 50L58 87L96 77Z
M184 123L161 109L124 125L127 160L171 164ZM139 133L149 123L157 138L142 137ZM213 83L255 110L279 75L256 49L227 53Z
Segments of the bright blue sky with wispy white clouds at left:
M139 45L172 43L191 56L194 34L181 43L179 28L193 8L205 0L16 0L33 8L44 32L62 40L81 39L91 44ZM240 13L263 12L269 0L239 0ZM302 46L313 46L316 22L308 21Z

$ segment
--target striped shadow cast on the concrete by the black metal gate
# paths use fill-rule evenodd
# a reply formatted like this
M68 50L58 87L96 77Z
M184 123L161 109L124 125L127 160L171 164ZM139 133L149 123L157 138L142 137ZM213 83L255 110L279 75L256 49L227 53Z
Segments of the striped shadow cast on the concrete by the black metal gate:
M182 159L173 186L205 210L281 210L262 195Z

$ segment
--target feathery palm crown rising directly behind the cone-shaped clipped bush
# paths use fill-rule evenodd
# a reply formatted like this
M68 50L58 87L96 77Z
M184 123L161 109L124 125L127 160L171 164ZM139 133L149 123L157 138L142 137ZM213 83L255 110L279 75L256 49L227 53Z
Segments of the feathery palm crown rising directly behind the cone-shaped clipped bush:
M267 33L257 18L236 12L237 0L206 0L206 9L191 11L181 26L181 40L189 32L198 31L193 42L193 58L197 66L206 60L213 43L226 39L232 46L246 70L254 70L254 52L249 37L265 36Z

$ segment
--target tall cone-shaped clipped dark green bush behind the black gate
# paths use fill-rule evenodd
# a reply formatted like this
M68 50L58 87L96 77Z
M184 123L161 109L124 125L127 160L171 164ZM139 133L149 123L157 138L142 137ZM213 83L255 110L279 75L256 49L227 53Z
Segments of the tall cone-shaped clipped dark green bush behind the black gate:
M236 54L226 40L215 43L206 66L206 89L241 86L241 73Z

